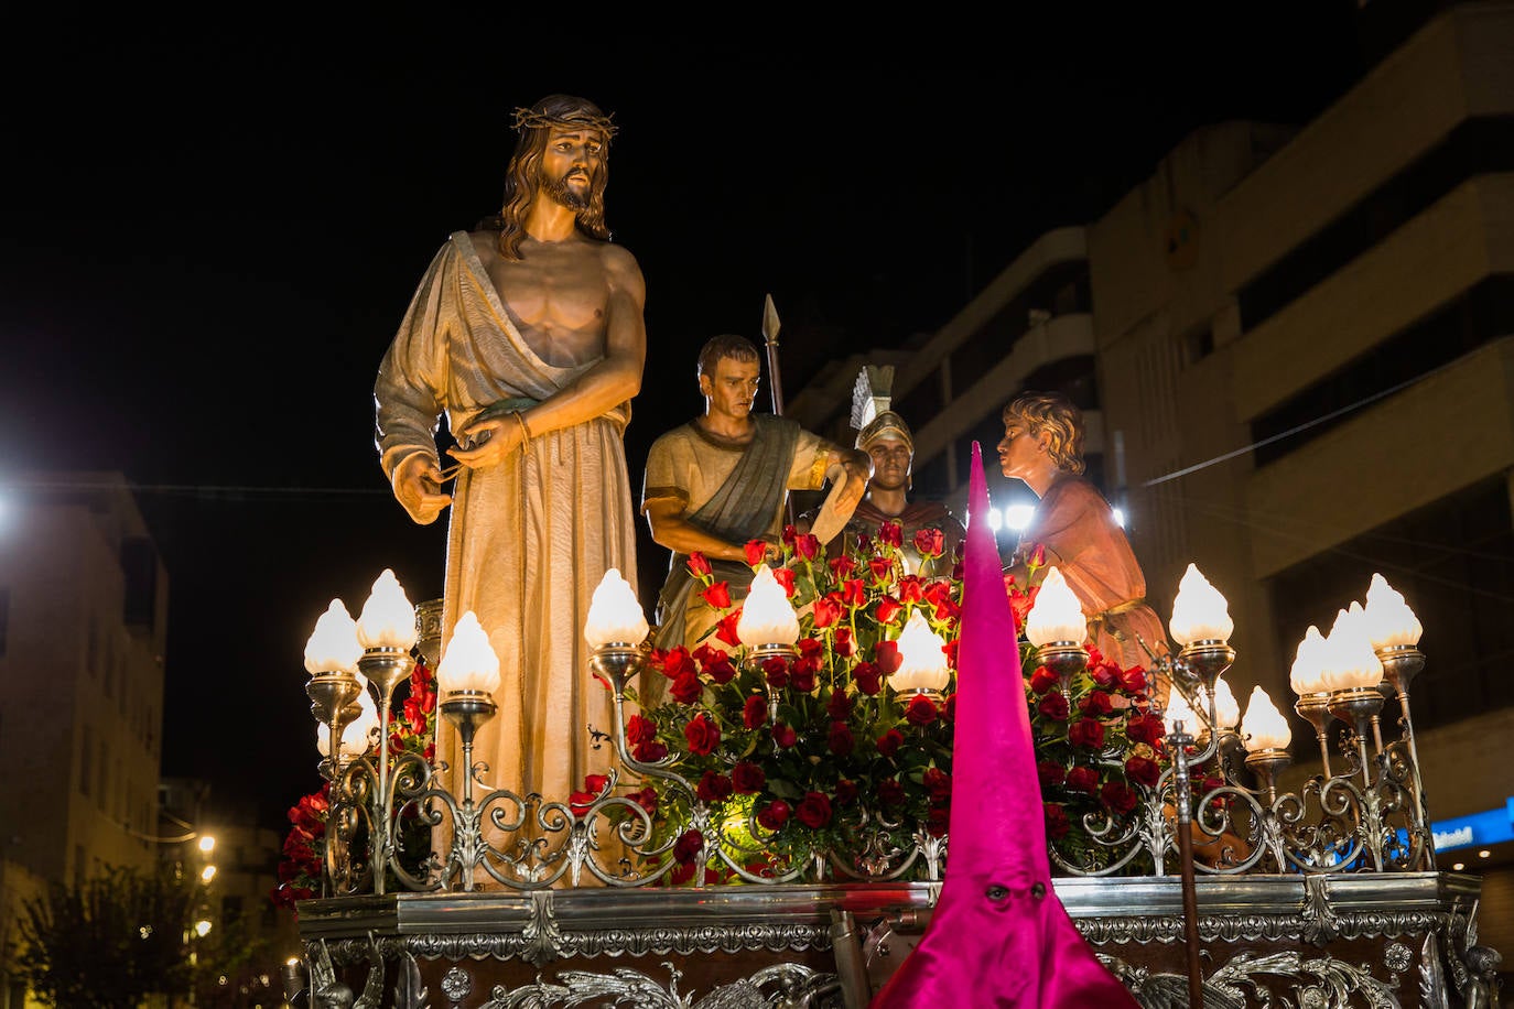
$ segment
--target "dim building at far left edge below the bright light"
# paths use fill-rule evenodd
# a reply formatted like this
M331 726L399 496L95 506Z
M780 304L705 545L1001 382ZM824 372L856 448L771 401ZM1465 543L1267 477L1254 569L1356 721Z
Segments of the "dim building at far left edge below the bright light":
M24 899L157 859L168 576L126 481L17 481L0 529L0 935ZM20 1004L5 985L0 1004Z

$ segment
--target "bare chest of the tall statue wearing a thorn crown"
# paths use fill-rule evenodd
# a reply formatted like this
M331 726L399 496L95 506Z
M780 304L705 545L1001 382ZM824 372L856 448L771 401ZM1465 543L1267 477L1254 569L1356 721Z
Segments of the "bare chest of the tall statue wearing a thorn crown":
M536 355L556 368L604 357L610 284L597 245L580 239L537 242L527 238L519 262L504 259L497 248L489 248L484 259L489 280Z

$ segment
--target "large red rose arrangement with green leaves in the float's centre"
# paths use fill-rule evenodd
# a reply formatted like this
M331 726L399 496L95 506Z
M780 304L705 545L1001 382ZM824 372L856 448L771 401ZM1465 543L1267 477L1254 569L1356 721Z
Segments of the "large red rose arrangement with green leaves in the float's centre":
M922 560L942 555L939 529L922 529L913 546ZM748 545L754 570L763 543ZM905 573L902 529L884 522L827 558L813 536L792 526L781 566L772 573L799 620L798 657L752 661L736 626L740 607L730 585L715 581L699 554L689 558L702 598L721 613L695 649L653 649L648 666L671 684L668 700L631 716L631 755L656 762L674 753L672 770L696 790L648 779L634 797L659 812L677 862L671 882L690 879L707 861L707 840L693 823L692 800L710 809L727 840L743 835L745 868L783 871L818 852L846 852L842 871L887 871L890 859L943 838L952 802L951 758L960 635L961 564L948 578ZM1039 569L1031 563L1031 581ZM1120 837L1149 799L1161 767L1161 720L1152 714L1142 669L1119 669L1093 652L1063 690L1039 669L1023 640L1025 616L1039 585L1010 584L1026 673L1026 703L1054 853L1079 867L1099 861L1090 830ZM951 670L939 694L895 691L899 635L919 614L943 641ZM713 640L712 640L713 638ZM604 781L587 781L575 802L586 806ZM969 797L970 800L970 797ZM745 846L743 846L745 850ZM913 871L925 871L916 867ZM730 879L707 865L706 880Z

